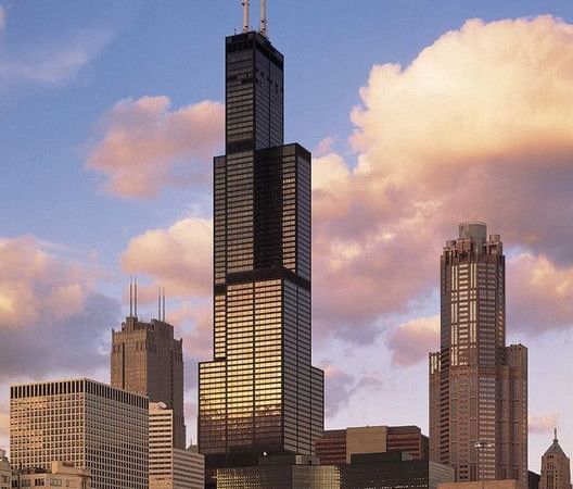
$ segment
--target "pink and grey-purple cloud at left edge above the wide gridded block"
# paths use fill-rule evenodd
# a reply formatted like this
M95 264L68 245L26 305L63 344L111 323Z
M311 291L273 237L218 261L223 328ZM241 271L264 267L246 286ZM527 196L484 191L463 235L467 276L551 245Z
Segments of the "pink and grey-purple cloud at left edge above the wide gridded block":
M94 291L93 271L33 237L0 239L0 381L106 365L105 336L120 308Z

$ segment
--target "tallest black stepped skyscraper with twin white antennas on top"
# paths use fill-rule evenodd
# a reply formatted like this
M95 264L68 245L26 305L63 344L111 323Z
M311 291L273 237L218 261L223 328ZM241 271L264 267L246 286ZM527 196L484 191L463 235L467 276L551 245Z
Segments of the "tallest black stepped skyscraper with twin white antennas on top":
M249 3L249 2L246 2ZM199 368L207 468L311 454L310 153L283 146L283 55L246 26L226 40L226 155L214 160L214 360Z

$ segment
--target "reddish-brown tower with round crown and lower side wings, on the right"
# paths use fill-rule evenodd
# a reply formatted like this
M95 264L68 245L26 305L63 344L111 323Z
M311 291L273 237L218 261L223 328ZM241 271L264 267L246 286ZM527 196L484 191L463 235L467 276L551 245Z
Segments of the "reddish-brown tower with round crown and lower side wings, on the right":
M441 260L441 350L430 354L430 456L458 481L527 482L527 349L506 347L499 235L460 225Z

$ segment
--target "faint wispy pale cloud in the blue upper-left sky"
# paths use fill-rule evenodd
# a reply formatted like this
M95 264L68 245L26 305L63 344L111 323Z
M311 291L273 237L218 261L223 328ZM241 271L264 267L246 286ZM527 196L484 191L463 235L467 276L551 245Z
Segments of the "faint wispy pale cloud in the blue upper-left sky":
M103 52L112 39L110 30L92 29L76 32L58 42L26 47L17 52L7 47L0 57L0 88L22 82L56 86L72 80Z

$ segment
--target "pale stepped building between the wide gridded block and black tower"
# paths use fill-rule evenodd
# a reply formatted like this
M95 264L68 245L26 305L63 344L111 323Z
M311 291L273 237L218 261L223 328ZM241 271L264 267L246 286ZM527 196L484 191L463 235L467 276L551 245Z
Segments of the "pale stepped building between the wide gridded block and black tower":
M150 489L203 489L204 457L196 450L175 448L173 425L173 410L150 403Z

